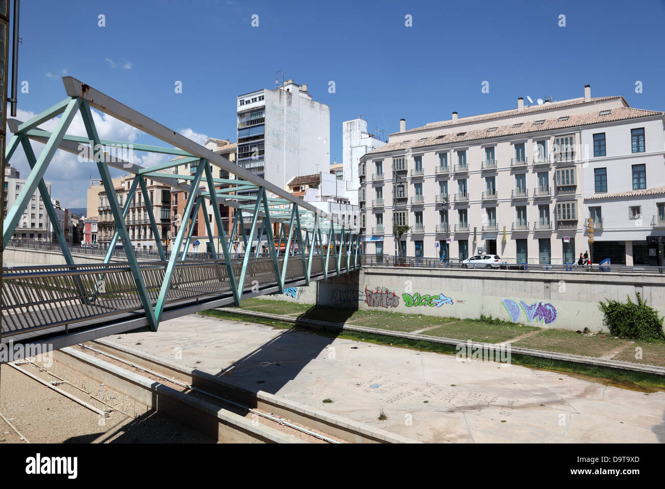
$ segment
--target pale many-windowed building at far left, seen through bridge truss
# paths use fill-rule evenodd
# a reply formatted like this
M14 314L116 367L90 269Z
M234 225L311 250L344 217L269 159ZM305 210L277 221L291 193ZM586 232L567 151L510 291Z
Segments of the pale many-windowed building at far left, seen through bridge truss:
M45 182L49 195L51 194L51 183ZM8 210L14 205L21 190L23 190L25 180L21 180L21 173L12 166L5 166L5 186L3 188L4 214L7 217ZM30 203L23 211L23 216L19 220L13 239L35 240L49 242L53 227L49 221L49 215L44 207L39 189L35 190Z

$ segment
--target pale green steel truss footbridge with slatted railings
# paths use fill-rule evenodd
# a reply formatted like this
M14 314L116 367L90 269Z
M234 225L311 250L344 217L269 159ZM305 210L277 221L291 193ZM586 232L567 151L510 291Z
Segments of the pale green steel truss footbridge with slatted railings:
M311 281L325 280L360 267L360 237L358 230L349 227L349 223L322 212L83 82L72 77L63 77L63 82L67 94L65 100L31 120L8 121L15 135L6 148L7 162L21 147L31 172L4 220L3 249L9 244L35 190L39 190L66 263L3 268L1 341L5 350L13 347L15 356L12 359L20 356L22 351L28 353L33 346L48 344L59 349L112 334L157 331L160 322L167 319L231 303L239 305L248 297L283 292L288 287L309 285ZM101 139L91 108L173 147ZM82 116L87 137L67 134L76 112ZM39 127L55 116L60 118L53 131ZM39 158L35 157L31 141L45 144ZM122 144L135 151L181 158L143 168L108 152L104 152L103 158L94 157L95 149ZM85 151L82 152L81 148ZM96 164L99 171L115 223L114 235L102 263L74 263L51 204L43 177L59 149L87 154L88 161ZM164 171L186 163L195 166L196 171L177 175ZM110 167L135 176L124 206L118 202ZM214 178L213 167L227 170L236 179ZM150 202L146 178L187 192L184 216L193 216L189 223L182 220L173 240L174 251L166 253L152 207L146 206L152 234L156 238L159 257L156 261L138 261L125 224L136 192L142 193L144 202ZM219 184L229 187L215 188ZM247 190L256 194L235 193ZM213 236L207 212L203 212L211 259L188 258L187 249L198 209L205 200L210 201L218 230L218 235ZM245 240L244 253L229 251L229 237L225 236L219 204L235 209L229 232L240 227L238 234ZM249 226L249 234L245 234L246 226ZM273 226L279 228L279 236L274 236ZM259 234L257 230L260 230ZM269 253L259 257L264 236ZM258 240L256 253L253 252L255 239ZM216 240L221 249L215 249ZM122 243L126 262L110 263L118 242ZM276 245L270 245L272 243ZM4 357L3 361L6 361Z

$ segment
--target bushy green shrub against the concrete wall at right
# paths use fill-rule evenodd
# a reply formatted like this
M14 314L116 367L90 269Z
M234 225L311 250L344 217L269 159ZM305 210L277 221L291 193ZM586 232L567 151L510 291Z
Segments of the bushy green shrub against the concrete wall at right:
M604 314L604 323L610 329L610 335L636 341L665 339L663 317L658 311L646 305L646 301L637 296L637 303L627 297L628 302L607 300L599 301L598 308Z

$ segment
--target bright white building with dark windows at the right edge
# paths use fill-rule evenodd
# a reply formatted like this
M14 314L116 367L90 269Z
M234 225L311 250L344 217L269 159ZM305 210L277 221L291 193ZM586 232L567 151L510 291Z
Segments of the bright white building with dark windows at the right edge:
M595 124L582 142L584 214L592 219L594 261L663 265L665 138L662 112ZM587 223L585 223L587 224ZM588 237L589 230L587 230Z

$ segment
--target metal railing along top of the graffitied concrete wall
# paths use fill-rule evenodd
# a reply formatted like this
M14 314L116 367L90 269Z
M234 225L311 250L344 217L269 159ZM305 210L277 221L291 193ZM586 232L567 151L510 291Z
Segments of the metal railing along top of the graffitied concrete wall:
M485 268L485 265L473 267L462 263L459 258L433 258L433 257L414 257L414 256L389 256L389 255L362 255L360 263L363 267L427 267L427 268L456 268L464 269L467 273L477 273L479 270L492 271L515 271L519 273L530 272L578 272L578 273L632 273L634 275L644 275L646 273L662 274L665 273L665 267L656 267L650 265L603 265L592 263L591 265L575 265L575 263L562 263L553 265L551 263L509 263L508 261L499 261L497 267Z

